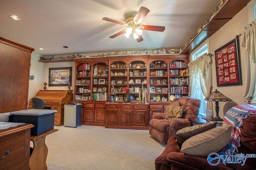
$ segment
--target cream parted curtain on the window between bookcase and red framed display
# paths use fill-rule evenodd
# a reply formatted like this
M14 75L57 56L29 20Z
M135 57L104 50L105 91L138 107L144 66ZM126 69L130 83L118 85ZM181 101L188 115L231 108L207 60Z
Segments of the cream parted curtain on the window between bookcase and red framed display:
M193 96L196 89L196 79L199 77L202 94L204 97L211 93L212 87L212 64L211 58L206 53L196 60L188 63L188 75L190 76L190 88L188 95ZM207 109L212 109L207 102Z

